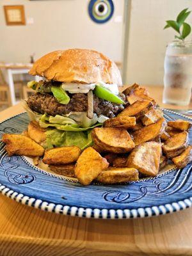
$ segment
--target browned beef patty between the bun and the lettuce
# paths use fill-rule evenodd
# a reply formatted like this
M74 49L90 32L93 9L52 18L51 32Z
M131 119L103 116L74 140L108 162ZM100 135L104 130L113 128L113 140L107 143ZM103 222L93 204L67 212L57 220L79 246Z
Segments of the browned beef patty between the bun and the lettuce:
M125 95L122 93L120 93L120 97L125 100ZM27 102L31 110L51 116L66 115L71 111L86 112L88 108L87 94L84 93L70 94L70 102L67 105L60 104L48 93L35 93L28 98ZM124 105L115 104L93 95L93 112L98 116L102 114L112 118L122 110L124 110Z

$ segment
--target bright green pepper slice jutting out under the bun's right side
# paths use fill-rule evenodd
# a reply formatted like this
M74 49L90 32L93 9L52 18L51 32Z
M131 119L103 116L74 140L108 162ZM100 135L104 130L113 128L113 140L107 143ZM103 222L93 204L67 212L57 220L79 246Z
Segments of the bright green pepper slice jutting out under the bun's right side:
M96 85L94 93L100 99L108 100L116 104L125 104L124 100L120 99L118 96L116 96L103 86Z

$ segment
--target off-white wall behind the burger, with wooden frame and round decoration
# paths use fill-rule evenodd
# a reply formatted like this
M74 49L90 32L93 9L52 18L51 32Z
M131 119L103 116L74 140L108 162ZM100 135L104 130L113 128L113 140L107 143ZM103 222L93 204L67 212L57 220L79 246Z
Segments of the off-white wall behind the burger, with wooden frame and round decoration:
M115 13L106 24L96 24L88 16L88 0L0 0L0 61L28 62L35 52L39 58L57 49L90 48L115 61L122 58L124 0L114 0ZM24 4L26 18L34 24L6 26L3 5Z

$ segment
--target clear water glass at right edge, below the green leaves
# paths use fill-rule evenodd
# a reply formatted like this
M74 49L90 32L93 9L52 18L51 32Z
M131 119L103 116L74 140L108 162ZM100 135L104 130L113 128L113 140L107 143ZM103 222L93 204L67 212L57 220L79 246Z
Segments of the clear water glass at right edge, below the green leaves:
M187 106L192 88L192 41L175 41L164 58L163 103Z

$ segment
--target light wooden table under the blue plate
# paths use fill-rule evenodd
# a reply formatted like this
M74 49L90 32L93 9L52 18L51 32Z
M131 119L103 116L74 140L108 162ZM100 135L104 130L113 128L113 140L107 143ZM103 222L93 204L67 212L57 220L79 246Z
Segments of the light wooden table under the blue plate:
M164 107L162 88L149 90ZM0 121L21 111L20 104L6 109ZM1 256L192 255L191 234L192 209L136 220L92 220L43 212L0 195Z

